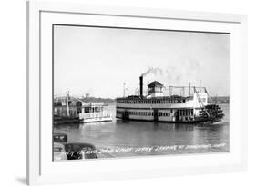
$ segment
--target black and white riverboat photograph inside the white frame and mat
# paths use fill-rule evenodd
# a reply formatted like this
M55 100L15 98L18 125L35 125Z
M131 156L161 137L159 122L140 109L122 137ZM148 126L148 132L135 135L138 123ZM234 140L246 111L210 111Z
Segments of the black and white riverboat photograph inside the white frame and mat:
M230 152L230 34L53 25L53 161Z

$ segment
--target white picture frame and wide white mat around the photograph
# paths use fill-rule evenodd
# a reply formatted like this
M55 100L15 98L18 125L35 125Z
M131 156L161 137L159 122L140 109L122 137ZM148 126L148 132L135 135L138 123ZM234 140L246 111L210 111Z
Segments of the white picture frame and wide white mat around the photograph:
M47 112L52 108L51 26L52 24L87 24L88 22L161 29L167 29L170 24L175 24L179 30L230 33L232 36L230 152L97 162L52 162L50 143L52 119L51 114ZM246 169L246 15L27 2L27 183L29 185L245 171Z

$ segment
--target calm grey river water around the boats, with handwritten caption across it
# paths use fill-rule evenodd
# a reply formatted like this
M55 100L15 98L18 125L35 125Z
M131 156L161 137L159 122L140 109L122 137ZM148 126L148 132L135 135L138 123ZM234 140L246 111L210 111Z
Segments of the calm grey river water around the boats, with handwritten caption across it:
M229 104L220 104L225 114L214 124L169 124L124 122L116 119L115 105L106 107L113 122L66 124L54 127L65 132L68 142L89 142L101 152L99 158L201 152L229 152Z

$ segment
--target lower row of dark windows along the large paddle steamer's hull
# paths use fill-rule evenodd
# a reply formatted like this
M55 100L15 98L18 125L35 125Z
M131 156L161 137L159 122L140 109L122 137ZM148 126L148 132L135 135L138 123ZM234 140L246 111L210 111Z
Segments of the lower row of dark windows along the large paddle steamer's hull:
M134 111L128 111L129 115L144 115L144 116L154 116L154 112L134 112ZM170 110L170 112L158 112L158 116L164 116L169 117L171 113L174 113L173 109ZM118 111L117 114L125 114L124 111ZM175 114L179 114L180 116L192 116L193 115L193 109L178 109Z

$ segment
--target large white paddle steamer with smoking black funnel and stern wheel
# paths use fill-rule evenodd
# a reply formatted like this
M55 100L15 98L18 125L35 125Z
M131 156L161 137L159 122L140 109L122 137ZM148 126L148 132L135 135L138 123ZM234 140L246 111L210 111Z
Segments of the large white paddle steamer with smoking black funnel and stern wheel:
M179 94L174 90L179 90ZM189 95L185 90L189 89ZM164 95L163 91L169 91ZM210 101L205 87L169 86L154 81L143 93L143 75L139 77L139 94L117 98L116 117L123 120L151 122L196 123L220 122L222 109Z

